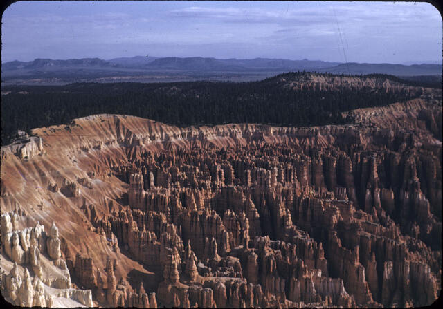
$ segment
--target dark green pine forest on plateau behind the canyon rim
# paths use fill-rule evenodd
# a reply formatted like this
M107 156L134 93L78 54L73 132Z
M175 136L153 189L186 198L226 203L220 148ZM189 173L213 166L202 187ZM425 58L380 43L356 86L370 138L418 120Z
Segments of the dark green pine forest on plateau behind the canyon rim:
M343 111L383 106L420 95L380 88L296 91L284 87L282 77L296 80L306 74L286 73L242 83L6 86L1 95L1 144L9 144L17 129L29 133L33 128L67 124L73 118L98 113L136 115L177 126L244 122L297 127L343 124ZM374 75L365 75L370 76ZM401 81L388 75L377 77Z

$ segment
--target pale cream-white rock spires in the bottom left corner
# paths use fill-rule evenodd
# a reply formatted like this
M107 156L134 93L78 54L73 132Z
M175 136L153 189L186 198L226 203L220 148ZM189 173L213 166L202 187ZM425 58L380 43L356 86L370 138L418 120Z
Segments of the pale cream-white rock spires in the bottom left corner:
M10 222L10 216L11 213L3 213L1 222ZM12 217L15 217L16 223L23 222L23 218L17 219L17 212L12 212ZM92 307L91 290L72 287L66 262L60 256L60 239L55 223L49 236L38 222L35 227L16 229L19 229L18 223L6 225L5 230L9 232L2 245L1 293L6 301L21 307ZM42 238L48 239L47 244L42 242L40 247L47 255L40 254L38 244ZM11 245L11 251L5 250Z

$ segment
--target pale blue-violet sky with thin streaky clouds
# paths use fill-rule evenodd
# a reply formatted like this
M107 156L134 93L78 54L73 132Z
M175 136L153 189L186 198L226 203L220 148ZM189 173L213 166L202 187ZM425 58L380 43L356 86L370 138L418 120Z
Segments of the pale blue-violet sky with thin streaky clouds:
M1 62L136 55L442 62L442 17L429 3L20 1L3 12L1 34Z

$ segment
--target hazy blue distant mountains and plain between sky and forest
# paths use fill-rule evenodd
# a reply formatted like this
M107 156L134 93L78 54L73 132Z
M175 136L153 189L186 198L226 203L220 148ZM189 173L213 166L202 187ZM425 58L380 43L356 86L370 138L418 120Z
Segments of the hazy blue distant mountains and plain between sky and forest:
M180 80L257 80L288 71L334 74L381 73L396 76L442 75L442 64L365 64L319 60L216 59L205 57L121 57L103 60L35 59L1 64L4 84L68 84L71 82L167 82Z

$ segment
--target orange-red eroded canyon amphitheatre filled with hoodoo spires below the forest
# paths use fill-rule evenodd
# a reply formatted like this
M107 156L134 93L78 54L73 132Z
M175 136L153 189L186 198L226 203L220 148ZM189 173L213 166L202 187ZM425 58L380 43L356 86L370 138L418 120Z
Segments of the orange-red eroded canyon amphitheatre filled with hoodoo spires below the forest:
M1 212L51 233L28 248L2 216L2 260L34 265L46 246L105 307L426 306L440 294L439 102L343 126L94 115L35 129L32 156L1 149Z

